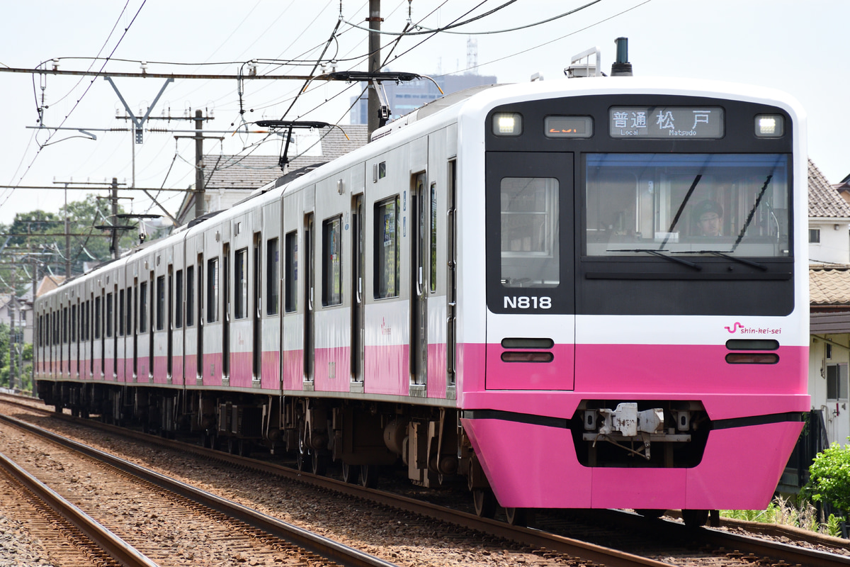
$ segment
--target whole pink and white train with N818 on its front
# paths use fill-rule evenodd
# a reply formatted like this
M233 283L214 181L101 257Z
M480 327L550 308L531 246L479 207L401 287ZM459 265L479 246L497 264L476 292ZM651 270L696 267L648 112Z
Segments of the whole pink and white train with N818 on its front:
M717 82L439 99L38 298L38 393L512 521L764 507L809 409L805 135Z

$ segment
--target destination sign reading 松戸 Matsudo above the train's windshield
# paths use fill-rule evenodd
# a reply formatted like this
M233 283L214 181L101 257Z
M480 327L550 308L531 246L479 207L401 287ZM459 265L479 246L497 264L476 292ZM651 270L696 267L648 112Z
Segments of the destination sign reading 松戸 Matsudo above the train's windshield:
M614 106L608 111L612 138L723 138L719 106Z

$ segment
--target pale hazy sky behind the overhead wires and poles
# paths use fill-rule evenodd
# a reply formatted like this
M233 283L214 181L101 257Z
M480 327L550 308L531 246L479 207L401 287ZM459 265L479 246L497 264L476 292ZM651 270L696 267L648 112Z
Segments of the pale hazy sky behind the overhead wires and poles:
M494 9L451 33L402 37L388 54L398 38L393 34L409 21L428 31ZM382 0L381 15L388 32L382 35L383 60L391 71L430 77L477 72L499 82L526 82L539 73L545 81L564 80L570 57L588 48L600 49L609 72L615 39L627 37L635 75L779 88L807 111L808 154L826 179L838 183L850 174L850 136L837 119L850 92L847 0ZM235 76L258 60L258 75L307 76L320 69L306 62L324 52L337 71L365 71L367 32L359 28L367 26L367 16L367 0L7 3L0 19L0 67L52 68L55 59L65 71L135 73L145 61L148 72ZM521 26L528 27L509 31ZM477 43L473 56L470 40ZM292 60L305 63L287 63ZM116 77L114 83L133 114L144 116L166 81ZM303 88L297 80L177 79L162 90L150 111L156 120L146 126L193 128L184 118L201 110L212 116L203 128L220 138L205 141L207 153L278 156L280 137L235 131L243 123L260 129L251 123L284 116L344 129L350 99L360 93L357 84L312 82L296 99ZM103 77L0 71L0 92L0 185L71 188L0 188L0 224L34 209L57 213L65 198L88 198L73 189L82 184L105 186L116 178L125 209L157 213L144 193L123 188L186 189L194 183L195 142L185 138L190 133L145 132L138 145L128 131L103 131L129 126L116 118L126 112ZM168 116L172 120L161 119ZM72 129L36 128L40 123ZM162 193L159 201L174 213L182 195Z

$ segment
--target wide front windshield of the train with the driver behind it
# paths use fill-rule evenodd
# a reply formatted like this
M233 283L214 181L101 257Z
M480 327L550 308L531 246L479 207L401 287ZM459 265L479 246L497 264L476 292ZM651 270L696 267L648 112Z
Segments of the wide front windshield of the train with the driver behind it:
M586 154L586 253L791 255L785 154Z

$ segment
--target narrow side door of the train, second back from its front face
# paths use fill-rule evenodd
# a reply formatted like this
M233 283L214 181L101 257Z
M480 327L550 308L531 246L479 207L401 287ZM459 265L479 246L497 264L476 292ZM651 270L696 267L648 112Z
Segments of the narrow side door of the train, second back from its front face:
M428 178L417 173L411 190L411 384L424 385L428 376Z

